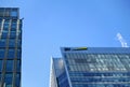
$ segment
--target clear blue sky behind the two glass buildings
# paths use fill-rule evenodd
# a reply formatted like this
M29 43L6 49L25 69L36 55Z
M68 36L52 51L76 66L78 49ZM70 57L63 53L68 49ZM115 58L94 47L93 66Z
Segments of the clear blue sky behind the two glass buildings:
M49 87L50 58L61 46L120 47L130 44L130 0L0 0L21 8L23 87Z

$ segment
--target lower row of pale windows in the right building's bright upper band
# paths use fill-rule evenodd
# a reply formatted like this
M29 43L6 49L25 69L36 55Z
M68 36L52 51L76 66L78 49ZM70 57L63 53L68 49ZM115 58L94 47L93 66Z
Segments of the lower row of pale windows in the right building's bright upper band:
M120 64L120 63L119 63ZM120 67L116 66L109 66L107 67L102 67L102 66L96 66L96 64L82 64L82 66L69 66L67 67L69 71L86 71L86 72L113 72L113 71L130 71L129 64Z

